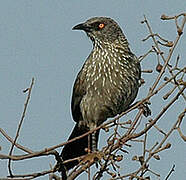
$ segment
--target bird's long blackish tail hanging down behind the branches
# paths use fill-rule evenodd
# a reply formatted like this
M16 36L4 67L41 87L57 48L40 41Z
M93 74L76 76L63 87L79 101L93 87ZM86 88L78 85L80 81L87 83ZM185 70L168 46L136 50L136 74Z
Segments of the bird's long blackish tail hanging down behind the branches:
M78 124L76 124L68 140L81 136L82 134L85 134L88 131L89 131L88 128L79 127ZM99 136L99 130L95 133L94 141L96 142L96 146L98 143L98 136ZM68 159L73 159L73 158L85 155L87 153L85 151L85 148L88 148L88 136L85 136L81 139L78 139L76 141L73 141L65 145L61 152L61 157L63 161L65 161ZM90 148L92 150L92 135L90 135ZM75 160L75 161L65 163L64 167L66 170L69 170L73 168L74 166L76 166L77 164L78 164L78 161Z

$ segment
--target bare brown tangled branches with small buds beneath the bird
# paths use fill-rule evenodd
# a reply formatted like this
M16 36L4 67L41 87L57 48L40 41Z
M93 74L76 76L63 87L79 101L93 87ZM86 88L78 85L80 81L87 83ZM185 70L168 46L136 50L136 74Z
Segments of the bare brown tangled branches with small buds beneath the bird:
M178 18L182 18L182 23L181 25L178 24ZM73 160L79 160L79 165L73 169L69 174L68 174L68 180L75 179L78 177L81 173L87 171L93 164L99 164L99 170L95 172L93 175L93 179L98 180L101 179L101 177L104 176L104 173L107 174L108 176L111 177L111 179L124 179L128 177L129 179L139 179L139 180L144 180L144 179L151 179L151 176L156 176L160 177L160 175L156 172L154 172L152 169L150 169L150 160L152 158L156 160L160 160L160 153L162 151L168 150L171 147L171 144L167 142L167 139L171 136L173 131L178 131L180 137L186 141L186 137L183 135L181 131L181 125L184 121L184 116L186 113L186 109L184 109L182 112L178 112L179 116L176 120L176 122L173 122L172 127L169 128L169 131L166 132L164 129L159 127L157 125L157 122L161 120L161 117L168 113L168 109L171 106L176 105L177 102L181 100L186 100L186 96L184 94L185 88L186 88L186 82L184 81L184 76L186 73L186 67L179 67L179 62L180 62L180 56L177 56L175 66L172 67L170 65L170 60L172 61L172 55L173 52L178 45L178 42L183 34L183 29L185 26L186 22L186 13L181 13L176 16L166 16L162 15L161 16L162 20L174 20L175 25L177 28L177 36L174 41L169 41L165 38L163 38L160 34L158 33L153 33L152 28L150 26L150 23L148 22L147 18L144 16L144 20L142 23L144 23L147 26L147 29L149 31L149 35L143 39L143 41L147 41L150 38L153 41L153 45L151 49L147 52L144 53L143 56L139 57L139 60L142 61L144 60L149 54L155 54L157 57L157 62L158 65L155 68L156 71L159 72L156 78L154 78L154 81L152 82L152 86L149 88L149 92L147 93L146 97L144 97L142 100L137 102L136 104L132 105L127 111L121 113L118 115L116 118L113 118L101 126L95 128L92 131L89 131L79 137L76 137L74 139L71 139L70 141L60 143L58 145L52 146L45 148L41 151L38 152L33 152L29 148L26 148L20 144L18 144L17 138L20 133L20 129L26 114L26 109L27 105L30 99L30 94L32 90L32 86L34 83L34 79L32 79L32 83L29 88L27 88L24 92L28 91L28 96L27 100L24 106L24 111L21 117L21 121L19 123L17 132L16 132L16 137L13 140L10 136L8 136L3 129L0 128L0 133L12 144L11 150L9 155L5 154L0 154L0 159L8 159L9 160L9 174L12 177L11 179L16 180L16 179L34 179L39 176L44 176L46 174L50 174L50 179L61 179L58 177L56 174L54 174L57 171L57 168L54 167L50 170L46 170L43 172L38 172L38 173L31 173L31 174L24 174L24 175L13 175L11 168L10 168L10 162L11 160L13 161L20 161L20 160L25 160L25 159L32 159L34 157L40 157L40 156L48 156L48 155L53 155L55 156L57 161L61 161L58 152L55 150L56 148L62 147L65 144L71 143L72 141L75 141L77 139L80 139L84 136L88 136L89 134L93 133L94 131L98 129L103 129L106 132L111 131L113 129L113 132L111 135L108 137L107 140L107 145L101 149L101 151L95 152L95 153L90 153L85 156L81 156L78 158L74 158L71 160L64 161L63 163L67 163L69 161ZM165 53L161 47L166 47L168 49L168 53ZM167 54L167 56L165 55ZM147 59L147 58L146 58ZM163 63L162 63L162 62ZM166 70L168 70L168 73L166 73ZM143 70L143 73L152 73L153 70ZM163 79L163 75L166 74L166 77ZM144 83L144 82L143 82ZM157 97L159 92L162 91L165 87L168 85L172 85L173 87L168 90L168 92L162 97L164 100L169 100L167 104L157 113L154 118L150 118L149 120L146 121L145 125L144 124L144 116L146 112L146 105L150 104L150 100L152 98ZM182 99L181 99L182 97ZM170 99L172 98L172 99ZM139 109L136 116L133 118L133 120L125 120L123 121L121 117L124 115L130 113L134 109ZM153 109L151 109L153 110ZM142 128L143 127L143 128ZM157 133L160 133L163 135L163 138L159 142L155 142L154 145L150 148L147 149L147 144L148 144L148 139L150 139L150 130L154 127L157 130ZM143 139L139 139L143 138ZM142 143L142 155L138 156L135 155L132 160L136 161L140 164L139 168L136 169L133 172L130 173L125 173L121 174L122 172L120 171L120 167L118 166L118 162L124 161L125 158L121 153L127 154L128 152L125 150L126 147L130 148L131 147L131 142L136 142L136 143ZM26 152L26 154L23 155L12 155L13 148L16 146L17 148L21 149L22 151ZM124 149L125 148L125 149ZM98 159L98 162L95 161L94 159ZM169 174L166 177L166 180L170 177L170 175L175 171L175 166L171 169ZM148 174L147 174L148 173ZM147 176L148 175L148 176ZM88 171L88 177L90 179L90 172ZM9 178L6 178L9 179Z

